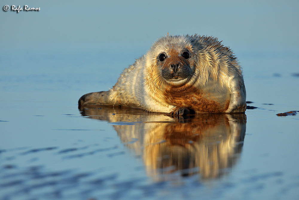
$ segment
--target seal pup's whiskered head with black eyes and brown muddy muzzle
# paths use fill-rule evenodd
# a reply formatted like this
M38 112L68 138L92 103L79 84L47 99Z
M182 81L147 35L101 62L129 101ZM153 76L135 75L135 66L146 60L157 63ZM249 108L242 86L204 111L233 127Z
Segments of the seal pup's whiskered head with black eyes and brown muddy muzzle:
M156 41L147 53L147 66L152 66L158 85L181 86L194 74L192 41L186 36L167 36ZM159 77L159 78L158 78Z

